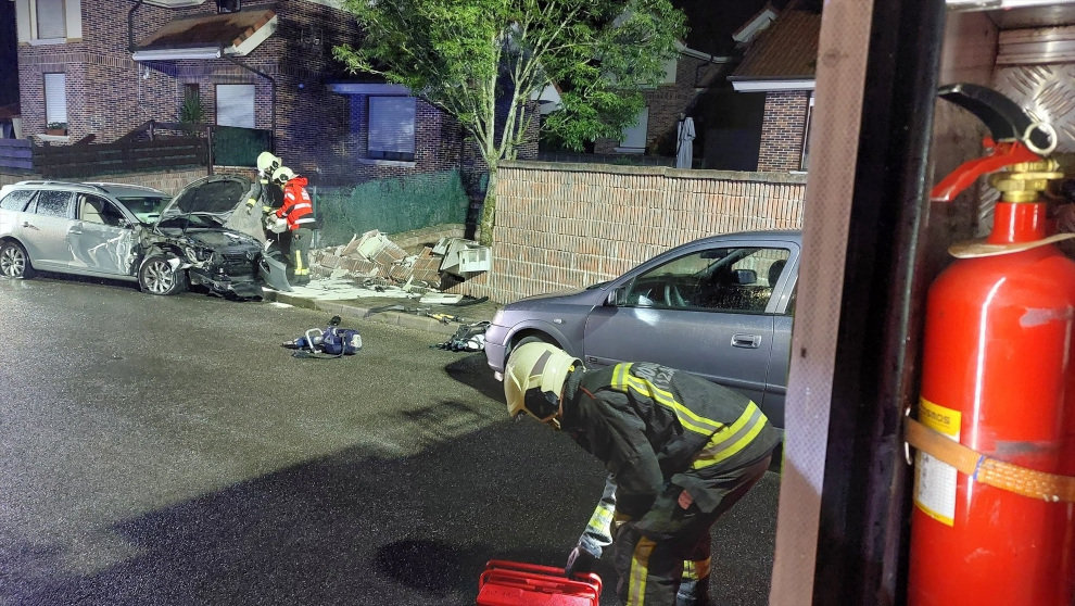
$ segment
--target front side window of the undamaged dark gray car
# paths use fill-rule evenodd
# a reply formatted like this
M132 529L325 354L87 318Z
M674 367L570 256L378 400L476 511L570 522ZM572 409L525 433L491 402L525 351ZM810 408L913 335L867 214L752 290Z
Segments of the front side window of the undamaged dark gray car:
M759 314L789 256L791 251L779 248L696 251L640 275L621 304Z

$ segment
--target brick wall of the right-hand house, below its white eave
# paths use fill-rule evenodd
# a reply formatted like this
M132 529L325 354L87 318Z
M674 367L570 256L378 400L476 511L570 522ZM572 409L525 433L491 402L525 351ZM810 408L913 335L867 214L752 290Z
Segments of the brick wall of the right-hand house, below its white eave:
M810 109L809 90L766 93L758 171L799 171Z

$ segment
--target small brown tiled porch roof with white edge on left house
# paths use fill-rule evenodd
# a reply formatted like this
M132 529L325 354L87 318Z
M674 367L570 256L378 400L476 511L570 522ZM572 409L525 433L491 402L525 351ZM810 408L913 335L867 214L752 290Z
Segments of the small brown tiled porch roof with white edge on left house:
M271 36L276 26L273 9L177 18L142 39L135 48L135 60L244 55Z

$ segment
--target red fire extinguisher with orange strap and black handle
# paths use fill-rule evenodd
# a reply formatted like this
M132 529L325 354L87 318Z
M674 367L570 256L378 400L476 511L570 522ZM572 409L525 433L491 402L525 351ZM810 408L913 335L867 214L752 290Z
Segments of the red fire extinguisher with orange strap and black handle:
M990 130L990 150L934 188L949 201L990 174L984 241L931 286L908 571L911 606L1075 604L1075 262L1053 243L1040 192L1062 178L1055 131L1002 94L940 97ZM1003 171L1002 171L1003 169Z

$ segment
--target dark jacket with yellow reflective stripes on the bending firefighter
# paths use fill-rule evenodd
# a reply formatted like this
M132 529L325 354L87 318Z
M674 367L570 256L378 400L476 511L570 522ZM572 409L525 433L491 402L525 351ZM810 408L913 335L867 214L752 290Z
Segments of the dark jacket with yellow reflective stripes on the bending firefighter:
M781 432L748 397L652 363L573 371L564 393L564 431L616 478L616 508L640 517L667 483L703 512L721 495L709 480L768 455Z

